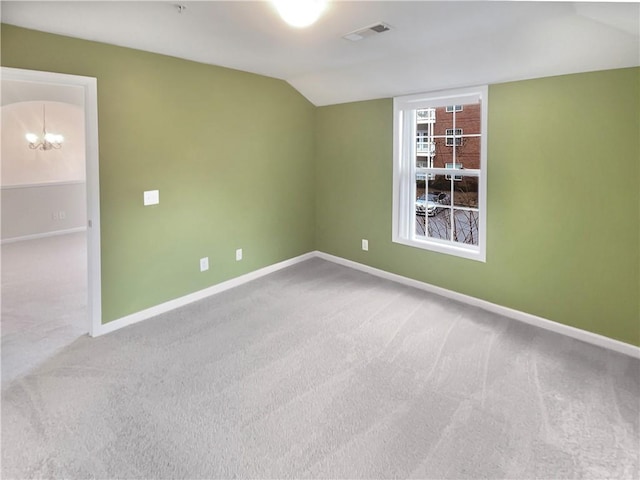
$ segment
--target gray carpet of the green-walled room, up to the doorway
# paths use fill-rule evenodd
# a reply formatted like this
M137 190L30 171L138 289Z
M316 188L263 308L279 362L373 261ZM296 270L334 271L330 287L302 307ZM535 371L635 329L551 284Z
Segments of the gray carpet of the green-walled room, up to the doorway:
M2 393L2 478L638 478L640 362L319 259Z

